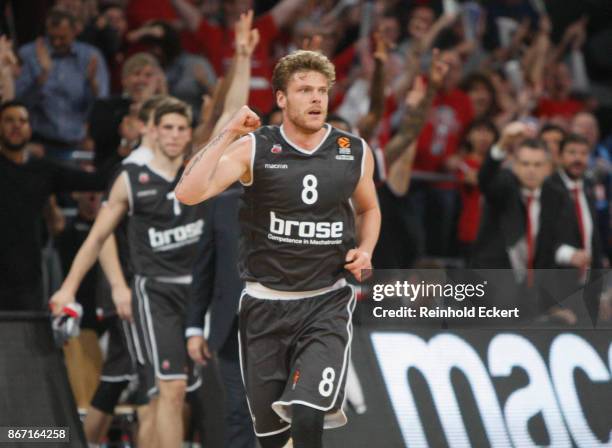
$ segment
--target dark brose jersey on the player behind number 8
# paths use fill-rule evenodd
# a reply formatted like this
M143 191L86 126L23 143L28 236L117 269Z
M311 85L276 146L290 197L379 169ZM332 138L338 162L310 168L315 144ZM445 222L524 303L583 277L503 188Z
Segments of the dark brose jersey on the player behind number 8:
M191 275L204 229L204 206L186 206L169 180L148 165L125 165L130 211L128 241L134 274L143 277Z

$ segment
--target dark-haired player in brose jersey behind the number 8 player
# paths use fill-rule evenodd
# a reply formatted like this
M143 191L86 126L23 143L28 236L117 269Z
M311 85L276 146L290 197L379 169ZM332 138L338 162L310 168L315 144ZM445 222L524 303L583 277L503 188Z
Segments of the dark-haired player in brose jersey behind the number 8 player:
M182 410L193 375L184 343L185 307L192 263L204 221L202 207L183 207L174 197L175 179L191 138L191 111L182 101L155 110L156 148L144 165L128 164L115 181L105 207L52 299L54 313L74 301L74 293L102 245L128 214L131 264L135 279L133 318L145 369L140 375L151 396L154 439L159 447L180 447Z

